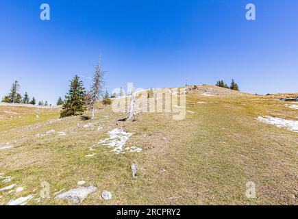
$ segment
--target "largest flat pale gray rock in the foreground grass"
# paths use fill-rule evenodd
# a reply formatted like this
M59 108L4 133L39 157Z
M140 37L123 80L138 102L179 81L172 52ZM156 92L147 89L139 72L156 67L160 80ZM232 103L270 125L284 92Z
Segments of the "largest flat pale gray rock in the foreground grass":
M72 201L73 203L82 203L82 201L84 201L84 199L87 198L89 194L92 194L96 190L97 188L94 186L80 187L64 192L58 196L55 196L55 198L67 199L69 201Z

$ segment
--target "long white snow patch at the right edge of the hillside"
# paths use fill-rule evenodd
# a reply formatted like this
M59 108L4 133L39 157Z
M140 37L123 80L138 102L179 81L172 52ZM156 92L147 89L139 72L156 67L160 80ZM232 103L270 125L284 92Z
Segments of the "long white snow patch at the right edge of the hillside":
M298 121L286 120L283 118L275 118L271 116L264 116L264 117L259 116L258 120L260 120L263 123L276 125L277 127L280 127L280 128L287 128L290 131L295 131L298 133Z

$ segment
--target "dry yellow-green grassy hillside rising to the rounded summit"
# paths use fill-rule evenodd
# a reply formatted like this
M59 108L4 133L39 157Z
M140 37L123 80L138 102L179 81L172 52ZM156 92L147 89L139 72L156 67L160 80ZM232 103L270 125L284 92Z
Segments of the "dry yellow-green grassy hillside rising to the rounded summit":
M24 189L0 191L0 205L28 195L34 195L28 205L72 205L54 194L78 181L97 187L82 205L296 205L298 133L257 120L297 121L288 104L199 86L187 94L184 120L142 113L118 122L123 115L111 107L99 107L95 120L60 119L59 109L0 106L0 189ZM120 128L132 133L125 146L141 152L115 154L98 144ZM42 181L50 198L39 199ZM256 198L245 196L249 181ZM105 190L112 200L101 198Z

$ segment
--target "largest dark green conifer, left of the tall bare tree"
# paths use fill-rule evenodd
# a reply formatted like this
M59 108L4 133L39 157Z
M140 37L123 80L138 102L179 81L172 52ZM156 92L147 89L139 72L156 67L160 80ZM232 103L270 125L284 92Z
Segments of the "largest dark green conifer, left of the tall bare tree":
M86 110L85 96L86 92L83 81L79 79L79 76L75 75L73 80L71 80L69 92L65 96L65 103L60 115L61 118L82 115Z

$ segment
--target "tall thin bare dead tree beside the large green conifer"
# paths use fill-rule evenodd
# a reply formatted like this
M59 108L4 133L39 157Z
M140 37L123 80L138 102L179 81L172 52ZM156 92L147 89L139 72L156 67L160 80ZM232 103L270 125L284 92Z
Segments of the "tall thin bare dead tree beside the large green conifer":
M99 64L95 68L95 75L93 77L93 83L91 88L91 101L90 109L92 110L92 119L95 118L95 103L100 98L103 97L103 87L105 82L103 80L103 72L101 71L101 54L99 55Z

